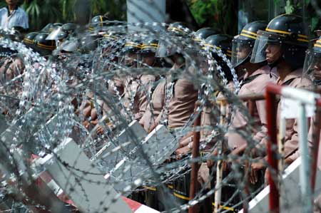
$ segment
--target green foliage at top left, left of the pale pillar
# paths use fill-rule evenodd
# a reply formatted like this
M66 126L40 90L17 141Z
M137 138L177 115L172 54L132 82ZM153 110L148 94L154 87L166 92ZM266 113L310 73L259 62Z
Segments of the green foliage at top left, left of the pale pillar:
M96 15L106 14L109 19L126 19L126 0L24 0L21 1L29 16L29 26L37 31L49 23L73 23L78 20L80 11L88 11L88 21ZM6 6L5 1L0 7ZM85 16L84 15L84 16ZM86 19L87 20L87 19Z

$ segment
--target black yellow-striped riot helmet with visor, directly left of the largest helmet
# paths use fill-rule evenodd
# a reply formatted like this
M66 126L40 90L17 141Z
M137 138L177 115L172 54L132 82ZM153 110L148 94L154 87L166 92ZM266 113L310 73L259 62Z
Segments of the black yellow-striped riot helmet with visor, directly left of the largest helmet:
M231 63L234 68L250 62L255 39L258 36L257 32L265 30L266 26L265 21L251 22L245 25L238 36L233 38Z

